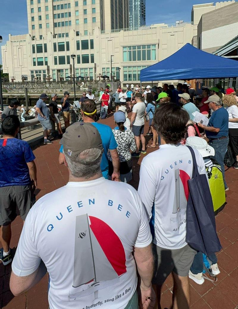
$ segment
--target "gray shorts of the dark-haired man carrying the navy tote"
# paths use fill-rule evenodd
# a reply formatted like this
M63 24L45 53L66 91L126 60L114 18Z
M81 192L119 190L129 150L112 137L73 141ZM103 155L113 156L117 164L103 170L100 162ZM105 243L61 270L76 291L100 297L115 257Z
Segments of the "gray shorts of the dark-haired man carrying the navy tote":
M197 251L186 245L181 249L165 249L153 244L154 276L152 283L162 286L173 271L178 276L187 277Z

